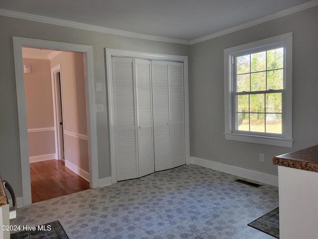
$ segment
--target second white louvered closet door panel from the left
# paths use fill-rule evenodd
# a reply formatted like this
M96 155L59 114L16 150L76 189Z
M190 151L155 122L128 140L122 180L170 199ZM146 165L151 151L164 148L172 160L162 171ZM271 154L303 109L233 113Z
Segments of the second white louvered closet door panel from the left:
M151 61L135 59L139 177L155 172Z

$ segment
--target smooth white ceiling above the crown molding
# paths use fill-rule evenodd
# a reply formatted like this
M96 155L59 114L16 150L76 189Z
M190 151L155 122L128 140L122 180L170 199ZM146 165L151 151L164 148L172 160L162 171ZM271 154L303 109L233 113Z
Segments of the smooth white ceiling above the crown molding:
M0 0L0 8L147 35L193 40L310 1Z

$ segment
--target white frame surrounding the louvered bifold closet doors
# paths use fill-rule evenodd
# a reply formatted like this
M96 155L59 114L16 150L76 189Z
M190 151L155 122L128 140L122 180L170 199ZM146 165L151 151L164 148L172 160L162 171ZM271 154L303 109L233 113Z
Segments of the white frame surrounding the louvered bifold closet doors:
M108 114L109 114L108 125L109 125L110 164L111 164L112 184L117 182L112 57L132 57L132 58L141 58L145 60L176 61L176 62L183 63L185 163L190 164L188 57L179 56L179 55L139 52L139 51L127 51L127 50L110 49L110 48L105 48L105 56L106 56Z

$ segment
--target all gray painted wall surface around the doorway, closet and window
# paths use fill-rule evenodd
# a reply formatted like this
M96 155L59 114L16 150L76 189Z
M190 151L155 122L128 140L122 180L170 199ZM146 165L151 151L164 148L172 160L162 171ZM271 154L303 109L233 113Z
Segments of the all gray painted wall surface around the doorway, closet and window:
M164 43L79 30L0 16L0 175L22 196L19 133L12 36L93 46L95 82L102 83L96 103L99 178L110 176L104 48L190 55L189 108L191 156L277 175L273 156L318 142L318 7L297 12L195 45ZM294 32L294 148L225 140L223 50L263 38ZM258 153L265 162L258 161Z

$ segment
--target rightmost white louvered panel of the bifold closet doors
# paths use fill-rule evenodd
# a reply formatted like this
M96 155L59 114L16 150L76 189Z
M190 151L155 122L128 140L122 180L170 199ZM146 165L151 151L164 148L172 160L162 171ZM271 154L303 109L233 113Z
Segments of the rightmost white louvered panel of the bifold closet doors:
M183 63L169 62L172 167L185 164Z

